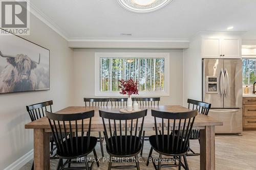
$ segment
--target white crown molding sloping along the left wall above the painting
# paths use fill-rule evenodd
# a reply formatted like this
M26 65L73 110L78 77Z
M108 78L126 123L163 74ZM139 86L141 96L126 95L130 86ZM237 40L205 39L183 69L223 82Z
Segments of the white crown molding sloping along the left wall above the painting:
M56 23L54 23L50 18L48 18L44 13L42 13L38 8L36 8L31 2L30 5L30 13L35 17L44 22L48 27L50 27L53 31L58 33L61 37L69 41L68 34L63 31Z

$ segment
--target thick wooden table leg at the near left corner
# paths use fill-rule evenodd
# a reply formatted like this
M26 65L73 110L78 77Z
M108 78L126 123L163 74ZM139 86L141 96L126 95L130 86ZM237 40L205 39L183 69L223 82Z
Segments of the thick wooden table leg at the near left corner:
M44 129L34 129L34 169L50 170L50 139Z

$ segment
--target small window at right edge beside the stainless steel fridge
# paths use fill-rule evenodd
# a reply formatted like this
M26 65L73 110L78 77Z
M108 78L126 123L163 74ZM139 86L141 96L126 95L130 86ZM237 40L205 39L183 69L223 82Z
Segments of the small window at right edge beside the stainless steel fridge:
M253 84L256 81L256 58L242 59L243 84Z

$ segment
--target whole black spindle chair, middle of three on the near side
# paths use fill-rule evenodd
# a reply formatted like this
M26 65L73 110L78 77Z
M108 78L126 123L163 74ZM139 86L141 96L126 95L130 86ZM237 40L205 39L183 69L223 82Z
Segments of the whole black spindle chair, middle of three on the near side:
M105 132L106 151L111 168L139 169L138 154L142 147L142 131L147 110L135 113L111 113L99 110ZM135 157L135 165L112 166L112 158Z

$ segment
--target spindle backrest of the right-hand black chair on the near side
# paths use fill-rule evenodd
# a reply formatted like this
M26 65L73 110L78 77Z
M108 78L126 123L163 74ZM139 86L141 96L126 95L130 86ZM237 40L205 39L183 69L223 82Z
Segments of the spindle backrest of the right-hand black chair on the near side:
M181 113L152 110L151 113L155 119L157 149L168 153L183 153L186 151L198 110Z

